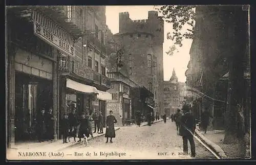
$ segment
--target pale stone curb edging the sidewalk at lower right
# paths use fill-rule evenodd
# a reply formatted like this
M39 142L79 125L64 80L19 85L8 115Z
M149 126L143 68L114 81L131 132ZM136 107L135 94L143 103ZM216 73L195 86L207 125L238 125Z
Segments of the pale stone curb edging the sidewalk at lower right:
M195 130L196 135L212 150L214 151L221 159L226 159L227 155L222 150L220 146L211 142L208 138L202 135L198 130Z

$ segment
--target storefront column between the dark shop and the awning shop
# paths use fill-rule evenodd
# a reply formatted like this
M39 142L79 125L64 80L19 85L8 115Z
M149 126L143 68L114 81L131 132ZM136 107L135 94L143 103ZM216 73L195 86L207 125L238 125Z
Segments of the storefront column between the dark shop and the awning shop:
M54 116L54 139L58 139L58 122L59 122L59 113L58 113L58 64L57 62L53 63L53 116Z

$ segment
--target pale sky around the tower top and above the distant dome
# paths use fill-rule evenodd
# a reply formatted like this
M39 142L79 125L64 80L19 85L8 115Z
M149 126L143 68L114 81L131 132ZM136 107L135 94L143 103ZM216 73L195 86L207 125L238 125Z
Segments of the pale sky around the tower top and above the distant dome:
M132 20L147 19L148 11L155 10L154 6L106 6L106 25L113 34L119 32L119 13L129 12ZM185 27L184 27L185 28ZM168 81L173 74L175 68L176 75L180 82L186 81L185 71L188 61L190 60L189 49L192 40L184 40L183 46L176 46L178 51L175 51L173 56L167 55L169 46L173 45L172 40L167 39L167 33L172 33L172 24L164 22L164 43L163 43L163 75L164 81Z

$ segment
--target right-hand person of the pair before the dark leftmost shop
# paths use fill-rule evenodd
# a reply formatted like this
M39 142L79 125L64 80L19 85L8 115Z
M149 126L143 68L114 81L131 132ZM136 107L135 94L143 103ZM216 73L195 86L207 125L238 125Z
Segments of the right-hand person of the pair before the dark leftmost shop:
M53 117L53 111L52 107L50 107L48 113L46 114L46 134L47 134L47 140L53 139L53 133L54 133L54 117Z

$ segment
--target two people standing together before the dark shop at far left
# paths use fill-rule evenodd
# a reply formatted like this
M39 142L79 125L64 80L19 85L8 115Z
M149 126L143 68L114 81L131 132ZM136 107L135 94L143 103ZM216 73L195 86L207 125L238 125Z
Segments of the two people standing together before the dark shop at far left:
M36 132L38 142L44 142L54 139L54 116L52 107L46 113L45 108L42 108L36 117Z

